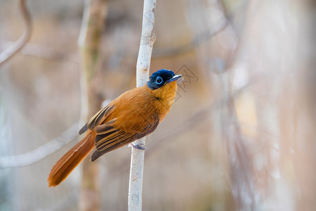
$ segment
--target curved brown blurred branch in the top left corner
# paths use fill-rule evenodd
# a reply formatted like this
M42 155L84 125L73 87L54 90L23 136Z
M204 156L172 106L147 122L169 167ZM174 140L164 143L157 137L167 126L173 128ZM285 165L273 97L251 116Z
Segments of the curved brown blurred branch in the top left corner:
M12 58L15 53L18 53L18 51L20 51L20 49L22 49L22 47L26 44L29 36L31 35L32 20L27 7L25 6L25 1L26 0L20 0L20 12L22 19L25 22L26 29L17 41L0 53L0 66L3 65L8 59Z

